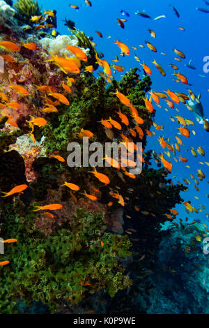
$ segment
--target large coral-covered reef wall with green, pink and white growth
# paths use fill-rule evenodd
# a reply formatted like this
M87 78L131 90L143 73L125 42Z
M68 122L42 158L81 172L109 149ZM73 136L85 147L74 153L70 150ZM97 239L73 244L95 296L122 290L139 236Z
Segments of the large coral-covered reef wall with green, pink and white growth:
M17 0L15 8L21 24L40 14L34 1ZM143 312L137 300L153 287L150 274L156 268L156 250L164 235L161 224L167 221L169 209L182 202L180 191L185 188L174 186L164 168L150 167L150 151L144 151L143 171L135 179L125 170L101 167L100 172L111 181L109 185L96 179L89 167L68 167L65 160L69 142L81 144L82 129L91 131L92 140L103 145L128 139L141 142L145 149L146 131L155 116L155 110L148 112L144 104L150 77L139 80L134 68L120 81L113 79L108 84L104 77L96 78L84 70L88 65L98 68L95 48L84 32L77 30L72 38L47 35L41 40L38 33L33 31L28 38L23 30L17 33L8 27L4 34L20 50L6 61L5 73L0 76L0 190L8 192L20 184L29 187L0 201L1 233L5 239L17 239L15 244L6 244L5 255L0 255L1 261L10 261L0 267L0 311L30 312L36 307L34 301L41 301L51 313L62 313L66 308L75 313L79 306L82 312L93 294L97 301L100 295L104 297L102 306L95 301L95 311ZM80 73L67 75L48 61L49 51L71 56L63 49L66 43L82 47L88 54L87 61L80 63ZM8 52L1 49L1 54ZM22 88L26 94L17 91ZM130 129L139 130L139 124L130 107L116 97L116 90L128 97L144 120L141 134L132 135ZM17 108L10 107L8 101ZM118 121L118 112L127 116L128 126L121 123L121 129L108 131L102 119ZM37 118L45 124L33 126ZM61 161L55 156L62 156ZM81 192L72 193L63 186L65 181L77 184ZM94 193L96 200L87 200L84 191ZM124 204L112 196L114 193L123 195ZM34 211L36 206L55 203L62 208L53 214Z

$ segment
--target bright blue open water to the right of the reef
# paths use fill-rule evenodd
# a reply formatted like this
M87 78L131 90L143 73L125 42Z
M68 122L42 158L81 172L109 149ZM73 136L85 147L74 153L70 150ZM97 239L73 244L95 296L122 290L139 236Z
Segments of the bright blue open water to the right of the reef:
M187 87L183 83L176 83L173 81L173 68L169 67L169 64L175 64L178 66L181 74L187 77L189 84L189 89L192 89L194 94L198 96L201 94L201 103L206 114L206 117L209 117L208 114L208 77L209 73L204 73L203 65L206 64L203 62L203 57L209 55L208 49L208 17L209 13L203 13L199 10L196 10L197 7L206 8L209 10L204 1L180 1L173 0L171 2L180 15L174 13L171 6L169 6L168 1L161 0L146 0L146 1L110 1L110 0L97 0L91 1L92 6L87 6L83 0L75 0L70 4L75 4L79 6L79 9L70 8L68 1L59 1L55 0L45 0L42 1L42 6L45 9L55 9L57 10L58 18L58 31L61 34L68 34L68 28L64 26L62 20L70 19L75 22L77 29L85 31L88 36L93 37L93 41L97 45L98 52L103 52L104 59L111 63L112 59L116 58L116 55L120 54L119 48L114 45L116 39L121 40L128 47L130 47L130 56L121 57L119 56L119 65L125 66L125 71L133 67L138 67L141 69L139 63L134 59L134 54L139 57L141 63L144 61L152 70L151 80L153 82L152 89L154 91L164 91L170 89L174 92L181 92L183 94L188 94ZM121 15L121 10L125 10L130 14L130 17ZM151 19L135 15L134 13L139 10L150 15ZM159 20L154 20L155 17L159 15L166 15L166 18L161 18ZM118 26L117 18L126 18L125 29L122 29ZM181 31L178 27L183 27L185 31ZM155 31L156 38L152 38L148 29ZM95 30L102 33L103 38L100 38ZM150 43L155 45L157 52L152 52L145 44L145 40L148 40ZM139 47L139 45L145 45L144 48ZM137 47L137 50L134 50L132 46ZM173 52L173 49L182 51L185 53L186 59L182 61L174 60L176 54ZM167 55L161 54L161 52L166 53ZM163 77L160 72L155 68L151 61L156 60L164 70L166 71L166 77ZM191 64L196 67L196 70L192 70L185 66L188 64L190 59L192 59ZM98 75L95 73L95 75ZM140 77L143 75L143 70L141 69ZM200 76L202 75L202 76ZM116 78L121 77L121 73L116 73ZM156 153L162 151L160 143L157 141L159 135L164 136L165 138L171 137L170 144L175 143L175 135L177 135L179 124L177 122L171 121L170 117L175 117L176 114L185 117L186 119L191 119L194 121L194 126L189 126L190 137L182 137L185 147L181 147L179 154L176 154L176 157L182 154L183 157L188 159L188 163L181 163L178 161L176 163L172 160L173 170L171 173L173 183L180 181L183 183L183 179L189 179L191 185L188 188L188 191L182 193L182 197L185 201L191 201L192 205L197 209L201 208L201 204L206 207L205 210L199 212L199 214L192 213L187 214L183 205L177 206L176 209L179 211L179 217L185 218L189 217L189 220L193 221L198 219L203 222L207 222L208 218L206 214L209 213L209 204L208 204L208 173L209 167L204 163L209 161L208 159L208 133L203 129L203 125L197 123L194 113L187 110L185 105L180 104L176 105L174 110L171 110L166 103L162 100L162 108L156 107L157 112L155 116L155 122L157 124L163 124L164 131L158 131L156 136L149 138L147 149L155 149ZM167 107L168 112L164 110ZM180 110L178 113L176 108ZM192 133L192 129L196 132L196 135ZM151 130L155 130L154 128ZM180 136L180 135L179 135ZM181 137L181 136L180 136ZM198 154L195 158L189 147L194 147L197 149L199 146L203 147L206 151L205 157L202 157ZM178 151L176 151L178 153ZM168 157L166 157L169 160ZM199 162L203 162L202 165ZM186 167L189 165L189 167ZM196 176L196 171L201 169L206 174L206 179L199 184L199 191L194 189L194 181L190 177L190 173ZM194 198L194 196L199 197L199 200Z

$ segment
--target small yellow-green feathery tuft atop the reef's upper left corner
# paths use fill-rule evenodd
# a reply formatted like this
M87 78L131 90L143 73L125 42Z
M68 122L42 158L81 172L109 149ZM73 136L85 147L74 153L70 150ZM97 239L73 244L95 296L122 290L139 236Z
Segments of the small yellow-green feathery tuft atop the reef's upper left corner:
M38 2L34 0L17 0L14 4L16 10L16 17L20 22L31 24L31 16L38 16L41 14Z

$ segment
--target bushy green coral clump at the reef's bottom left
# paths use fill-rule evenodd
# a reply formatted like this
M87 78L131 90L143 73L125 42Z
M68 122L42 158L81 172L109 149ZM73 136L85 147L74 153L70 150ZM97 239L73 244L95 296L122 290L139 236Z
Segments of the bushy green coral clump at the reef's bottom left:
M131 284L118 260L130 256L130 241L127 236L103 233L100 214L91 216L79 210L68 228L46 239L33 228L37 214L31 207L26 209L17 201L3 210L3 234L19 242L6 247L4 257L10 267L0 268L1 288L5 288L1 313L14 313L17 295L29 305L41 300L54 313L60 303L77 304L100 289L114 297L117 290Z

